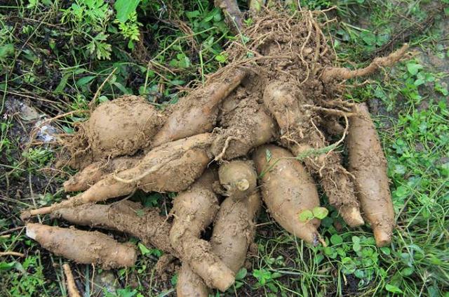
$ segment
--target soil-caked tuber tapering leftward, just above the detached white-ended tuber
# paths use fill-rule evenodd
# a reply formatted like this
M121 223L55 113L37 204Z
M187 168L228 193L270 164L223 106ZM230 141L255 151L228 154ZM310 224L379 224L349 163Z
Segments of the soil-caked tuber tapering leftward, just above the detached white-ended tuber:
M170 246L167 235L171 223L161 216L157 208L144 208L136 202L123 201L116 204L85 204L58 209L53 216L63 218L75 225L88 225L107 230L117 230L138 237L145 244L177 256Z

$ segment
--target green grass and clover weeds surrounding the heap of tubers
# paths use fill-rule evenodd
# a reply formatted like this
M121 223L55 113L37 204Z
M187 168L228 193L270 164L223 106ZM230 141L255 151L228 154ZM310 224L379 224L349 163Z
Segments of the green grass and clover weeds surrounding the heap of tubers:
M67 132L73 131L75 121L85 119L81 111L88 110L105 80L100 101L133 93L161 107L175 103L182 95L180 87L194 80L201 84L205 75L226 64L222 51L226 41L235 37L212 2L144 0L137 14L125 17L117 14L120 8L102 0L77 0L75 6L51 0L0 4L0 251L26 253L25 258L0 258L1 296L67 294L62 282L64 260L27 239L18 228L22 225L18 214L20 209L62 199L60 185L71 172L52 166L58 147L27 142L32 124L11 109L11 100L28 100L49 117L78 111L53 122ZM436 4L300 2L302 7L317 9L335 6L328 12L328 18L337 18L330 23L335 49L342 62L357 65L366 65L401 28L426 20ZM370 77L365 84L351 81L354 86L347 90L348 100L369 103L387 155L397 223L391 246L377 248L368 227L349 229L326 197L323 206L330 213L320 228L326 247L304 246L262 213L251 265L239 272L235 288L226 295L449 296L445 17L444 12L436 14L434 25L414 29L408 36L412 48L424 54ZM438 59L445 64L432 62ZM153 206L173 197L140 194L135 198ZM41 220L55 223L47 217ZM154 272L160 251L138 246L142 256L137 265L115 272L121 288L115 295L173 293L176 275L164 280ZM90 279L98 269L73 264L72 268L78 284L92 292Z

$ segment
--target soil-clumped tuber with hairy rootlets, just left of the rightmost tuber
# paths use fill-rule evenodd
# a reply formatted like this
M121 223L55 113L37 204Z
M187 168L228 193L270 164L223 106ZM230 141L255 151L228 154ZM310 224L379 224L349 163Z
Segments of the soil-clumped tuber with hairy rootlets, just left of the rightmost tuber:
M294 84L274 81L265 88L264 105L281 128L281 144L296 157L302 157L311 173L319 176L330 204L351 227L363 225L350 174L335 150L324 150L328 143L314 121L318 115L311 100Z

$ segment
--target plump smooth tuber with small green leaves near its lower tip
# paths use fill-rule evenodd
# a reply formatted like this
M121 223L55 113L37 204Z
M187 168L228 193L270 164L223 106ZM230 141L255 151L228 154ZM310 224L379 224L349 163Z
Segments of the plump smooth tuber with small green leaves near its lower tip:
M271 159L267 162L267 150ZM302 211L312 211L319 206L314 181L300 161L276 145L262 145L255 150L253 160L262 176L262 198L269 213L285 230L314 246L319 244L316 228L320 220L299 220Z

